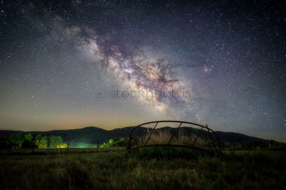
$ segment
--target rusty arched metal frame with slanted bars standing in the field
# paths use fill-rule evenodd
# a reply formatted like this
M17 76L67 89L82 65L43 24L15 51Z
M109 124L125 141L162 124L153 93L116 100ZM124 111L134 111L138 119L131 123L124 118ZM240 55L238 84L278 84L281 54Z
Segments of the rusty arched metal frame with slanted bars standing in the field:
M174 132L174 134L172 134L172 137L170 138L170 140L169 140L169 142L167 144L146 144L148 142L148 140L150 139L150 136L153 134L157 124L158 123L162 123L162 122L180 123L180 125L177 127L177 129ZM138 140L136 140L136 138L137 138L137 135L138 135L140 127L142 125L151 124L151 123L156 123L156 125L154 126L154 128L152 129L152 131L150 132L148 137L146 138L146 141L145 141L144 145L142 145L142 146L134 146L134 143L138 142ZM170 142L174 138L175 134L178 132L178 130L179 130L180 126L182 125L182 123L184 123L184 124L192 124L192 125L196 125L196 126L200 126L201 127L200 131L198 132L198 135L196 136L196 138L195 138L195 140L194 140L194 142L192 143L191 146L180 145L180 144L170 144ZM138 128L138 129L137 129L135 137L133 138L132 137L132 131L134 129L136 129L136 128ZM200 133L202 132L203 128L206 129L208 131L209 135L210 135L211 146L212 146L211 151L195 146L196 140L197 140L198 136L200 135ZM213 138L211 132L215 135L214 138ZM130 130L127 152L130 152L131 150L138 149L138 148L152 147L152 146L169 146L169 147L191 148L191 149L195 149L195 150L201 150L201 151L204 151L204 152L208 152L208 153L213 154L213 155L221 155L221 143L219 141L219 136L217 135L217 133L214 130L208 128L208 125L203 126L203 125L200 125L200 124L196 124L196 123L192 123L192 122L185 122L185 121L174 121L174 120L152 121L152 122L147 122L147 123L142 123L140 125L137 125L137 126L133 127Z

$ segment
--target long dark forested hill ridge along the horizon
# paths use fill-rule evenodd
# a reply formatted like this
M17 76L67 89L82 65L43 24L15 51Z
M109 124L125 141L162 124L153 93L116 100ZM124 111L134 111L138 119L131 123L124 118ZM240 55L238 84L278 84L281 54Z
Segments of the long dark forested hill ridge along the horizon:
M29 131L24 133L31 133L33 137L38 134L46 135L46 136L61 136L63 141L65 142L84 142L84 143L100 143L108 142L109 139L118 140L122 137L128 137L129 131L132 128L124 127L124 128L116 128L113 130L105 130L98 127L85 127L81 129L68 129L68 130L51 130L51 131ZM171 133L175 132L176 128L171 127L162 127L156 130L170 130ZM138 132L138 136L142 136L145 134L147 128L141 127ZM192 127L182 127L184 135L191 136L192 134L198 134L199 129ZM0 130L0 136L10 136L11 134L17 134L22 131L13 131L13 130ZM134 130L136 132L136 130ZM222 132L216 131L218 134L221 143L223 142L231 142L231 143L241 143L243 142L251 142L251 141L259 141L267 143L269 140L265 140L262 138L257 138L253 136L247 136L241 133L235 132ZM209 139L210 136L206 130L202 130L201 136L202 138Z

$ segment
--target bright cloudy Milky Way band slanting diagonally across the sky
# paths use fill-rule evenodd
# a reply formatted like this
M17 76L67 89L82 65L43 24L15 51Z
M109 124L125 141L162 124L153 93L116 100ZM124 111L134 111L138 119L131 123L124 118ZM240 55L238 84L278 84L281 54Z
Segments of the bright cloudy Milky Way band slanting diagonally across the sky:
M178 73L174 71L174 65L166 56L153 54L151 51L140 48L130 48L132 47L130 43L117 46L109 42L112 40L110 37L98 36L95 30L78 26L65 27L62 18L59 17L52 19L51 25L55 26L54 30L61 40L75 44L78 49L83 49L87 59L119 79L122 87L129 93L138 92L134 92L134 95L137 97L141 95L138 99L153 105L154 110L168 112L167 109L170 109L171 103L188 102L182 96L168 98L172 90L184 93L186 87L183 87L182 82L176 78ZM79 53L82 52L79 51ZM156 91L161 92L161 96L159 93L156 94ZM158 96L155 97L155 95ZM191 95L188 96L190 97Z

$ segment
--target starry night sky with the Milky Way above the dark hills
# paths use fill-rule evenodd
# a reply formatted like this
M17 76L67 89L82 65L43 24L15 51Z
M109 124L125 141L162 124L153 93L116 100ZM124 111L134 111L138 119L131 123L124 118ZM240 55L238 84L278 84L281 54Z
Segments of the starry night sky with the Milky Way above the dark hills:
M282 1L3 0L0 129L183 120L285 141L285 18Z

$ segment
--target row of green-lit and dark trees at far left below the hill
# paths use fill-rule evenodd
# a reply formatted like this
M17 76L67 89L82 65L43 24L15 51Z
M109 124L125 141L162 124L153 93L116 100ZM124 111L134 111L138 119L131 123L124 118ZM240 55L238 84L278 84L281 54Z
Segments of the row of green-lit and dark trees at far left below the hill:
M38 134L35 138L31 133L20 132L12 134L9 138L0 138L0 148L67 148L61 136L43 136Z

